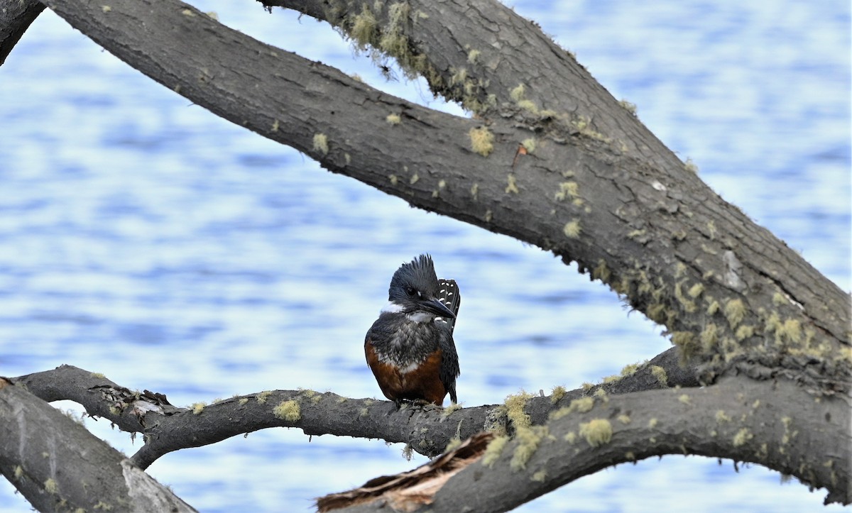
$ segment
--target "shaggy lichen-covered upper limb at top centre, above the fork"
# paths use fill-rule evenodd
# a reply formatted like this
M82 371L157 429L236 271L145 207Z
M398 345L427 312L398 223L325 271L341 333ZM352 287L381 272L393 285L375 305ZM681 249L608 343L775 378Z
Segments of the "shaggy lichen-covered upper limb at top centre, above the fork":
M377 9L347 0L257 1L268 9L280 6L331 23L361 48L369 45L422 75L435 95L471 111L521 104L538 111L573 112L576 118L586 118L587 130L617 139L630 154L682 167L573 55L503 3L408 0L379 3L383 7ZM395 22L400 12L409 20ZM374 30L363 30L365 17L375 20Z

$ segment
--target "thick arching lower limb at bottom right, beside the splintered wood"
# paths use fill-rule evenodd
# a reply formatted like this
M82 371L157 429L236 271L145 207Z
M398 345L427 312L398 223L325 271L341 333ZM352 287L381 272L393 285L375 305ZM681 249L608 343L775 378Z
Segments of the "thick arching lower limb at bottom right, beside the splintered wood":
M785 415L798 408L804 414L797 419ZM817 402L787 380L769 394L766 383L734 377L703 389L611 396L555 414L508 443L493 441L480 462L440 487L431 510L509 510L602 468L663 454L759 461L831 488L826 503L848 502L848 426L848 397ZM826 438L838 444L827 457L809 450ZM346 511L386 509L380 499Z

